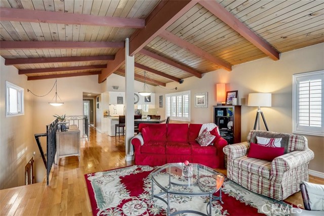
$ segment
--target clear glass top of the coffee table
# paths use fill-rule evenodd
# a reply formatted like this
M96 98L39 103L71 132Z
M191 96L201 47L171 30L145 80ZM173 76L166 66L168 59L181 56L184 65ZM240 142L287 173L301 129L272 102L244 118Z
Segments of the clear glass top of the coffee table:
M203 195L215 193L216 177L222 175L198 163L192 164L192 177L183 175L182 163L168 163L151 172L150 178L163 191L174 194Z

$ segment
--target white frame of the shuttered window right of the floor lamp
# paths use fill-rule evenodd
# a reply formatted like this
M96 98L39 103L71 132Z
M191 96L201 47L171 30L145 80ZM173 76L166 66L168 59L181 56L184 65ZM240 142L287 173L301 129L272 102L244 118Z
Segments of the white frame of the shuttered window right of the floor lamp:
M299 84L304 81L311 81L315 79L321 80L321 126L304 126L299 125ZM311 105L310 105L311 106ZM311 107L309 107L311 109ZM306 113L309 114L309 113ZM299 73L293 75L293 133L314 135L314 136L324 136L324 70Z

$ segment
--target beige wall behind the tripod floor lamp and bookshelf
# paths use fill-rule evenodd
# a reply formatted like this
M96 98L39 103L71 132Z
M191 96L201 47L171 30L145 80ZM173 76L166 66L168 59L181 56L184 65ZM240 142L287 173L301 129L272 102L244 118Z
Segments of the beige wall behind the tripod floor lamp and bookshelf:
M256 107L248 107L249 93L272 93L272 107L262 108L269 130L292 133L292 75L324 69L324 44L283 53L279 61L264 58L245 64L233 66L231 72L217 70L204 74L203 78L190 77L183 84L172 82L167 88L178 87L177 92L191 91L191 122L206 123L213 121L213 106L216 105L216 84L227 83L226 91L238 90L238 101L241 108L241 140L245 141L248 132L253 128ZM158 96L175 92L155 88L155 104L158 107ZM208 92L208 108L194 108L194 94ZM165 116L164 108L159 114ZM264 129L261 121L261 129ZM324 137L306 136L309 148L315 153L309 168L324 172Z

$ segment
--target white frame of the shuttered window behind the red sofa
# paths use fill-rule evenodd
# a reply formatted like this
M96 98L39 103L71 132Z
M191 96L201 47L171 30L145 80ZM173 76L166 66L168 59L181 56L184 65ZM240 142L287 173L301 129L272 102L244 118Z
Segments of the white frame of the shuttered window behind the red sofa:
M183 101L183 96L188 96L188 117L184 117L184 101ZM168 106L169 106L169 102L168 102L168 98L175 97L176 98L176 102L175 102L175 106L176 107L172 107L172 102L170 103L170 115L168 113ZM179 107L178 107L178 98L181 97L181 106L182 106L182 110L181 112L179 112ZM170 116L171 120L175 120L175 121L190 121L190 111L191 111L191 102L190 102L190 91L184 91L184 92L177 92L177 93L170 93L170 94L166 94L166 116ZM175 115L172 114L172 109L175 109Z

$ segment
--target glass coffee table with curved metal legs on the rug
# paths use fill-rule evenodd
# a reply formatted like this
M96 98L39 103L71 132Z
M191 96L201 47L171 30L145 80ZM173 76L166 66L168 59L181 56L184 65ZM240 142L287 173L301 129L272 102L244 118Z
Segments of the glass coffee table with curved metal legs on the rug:
M180 213L195 213L199 215L212 215L212 202L220 200L222 203L222 189L224 175L214 169L198 163L192 164L192 177L183 175L182 163L165 164L149 175L152 180L152 199L155 197L167 204L167 215L172 216ZM161 189L160 193L154 194L154 185ZM213 196L220 190L219 196ZM166 198L163 198L163 196ZM209 202L206 206L207 213L196 210L179 210L170 213L170 195L180 196L208 196Z

